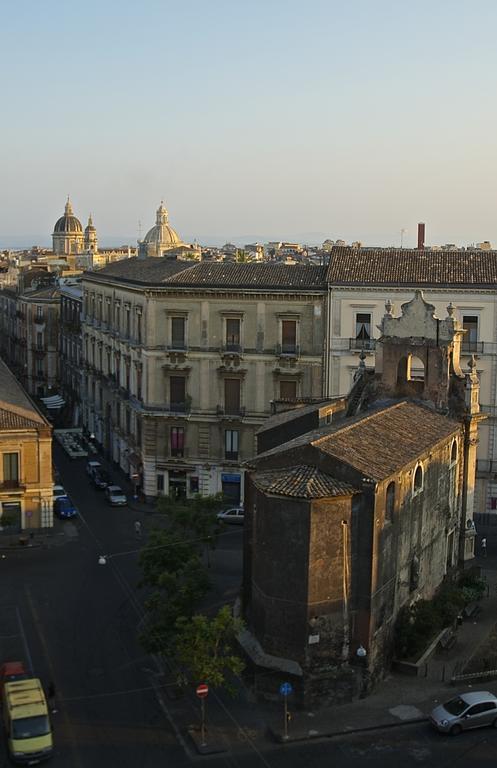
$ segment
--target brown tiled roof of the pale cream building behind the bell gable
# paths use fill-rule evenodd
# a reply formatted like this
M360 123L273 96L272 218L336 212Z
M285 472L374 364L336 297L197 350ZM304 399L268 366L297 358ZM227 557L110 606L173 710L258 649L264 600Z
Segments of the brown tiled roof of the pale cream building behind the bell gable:
M497 251L336 247L331 285L476 287L497 284Z

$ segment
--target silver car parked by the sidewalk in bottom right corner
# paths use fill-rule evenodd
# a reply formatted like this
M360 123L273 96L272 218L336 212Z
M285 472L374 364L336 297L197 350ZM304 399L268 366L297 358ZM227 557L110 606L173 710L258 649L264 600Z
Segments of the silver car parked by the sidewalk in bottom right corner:
M470 728L497 728L497 696L488 691L467 691L435 707L430 722L441 733L457 736Z

